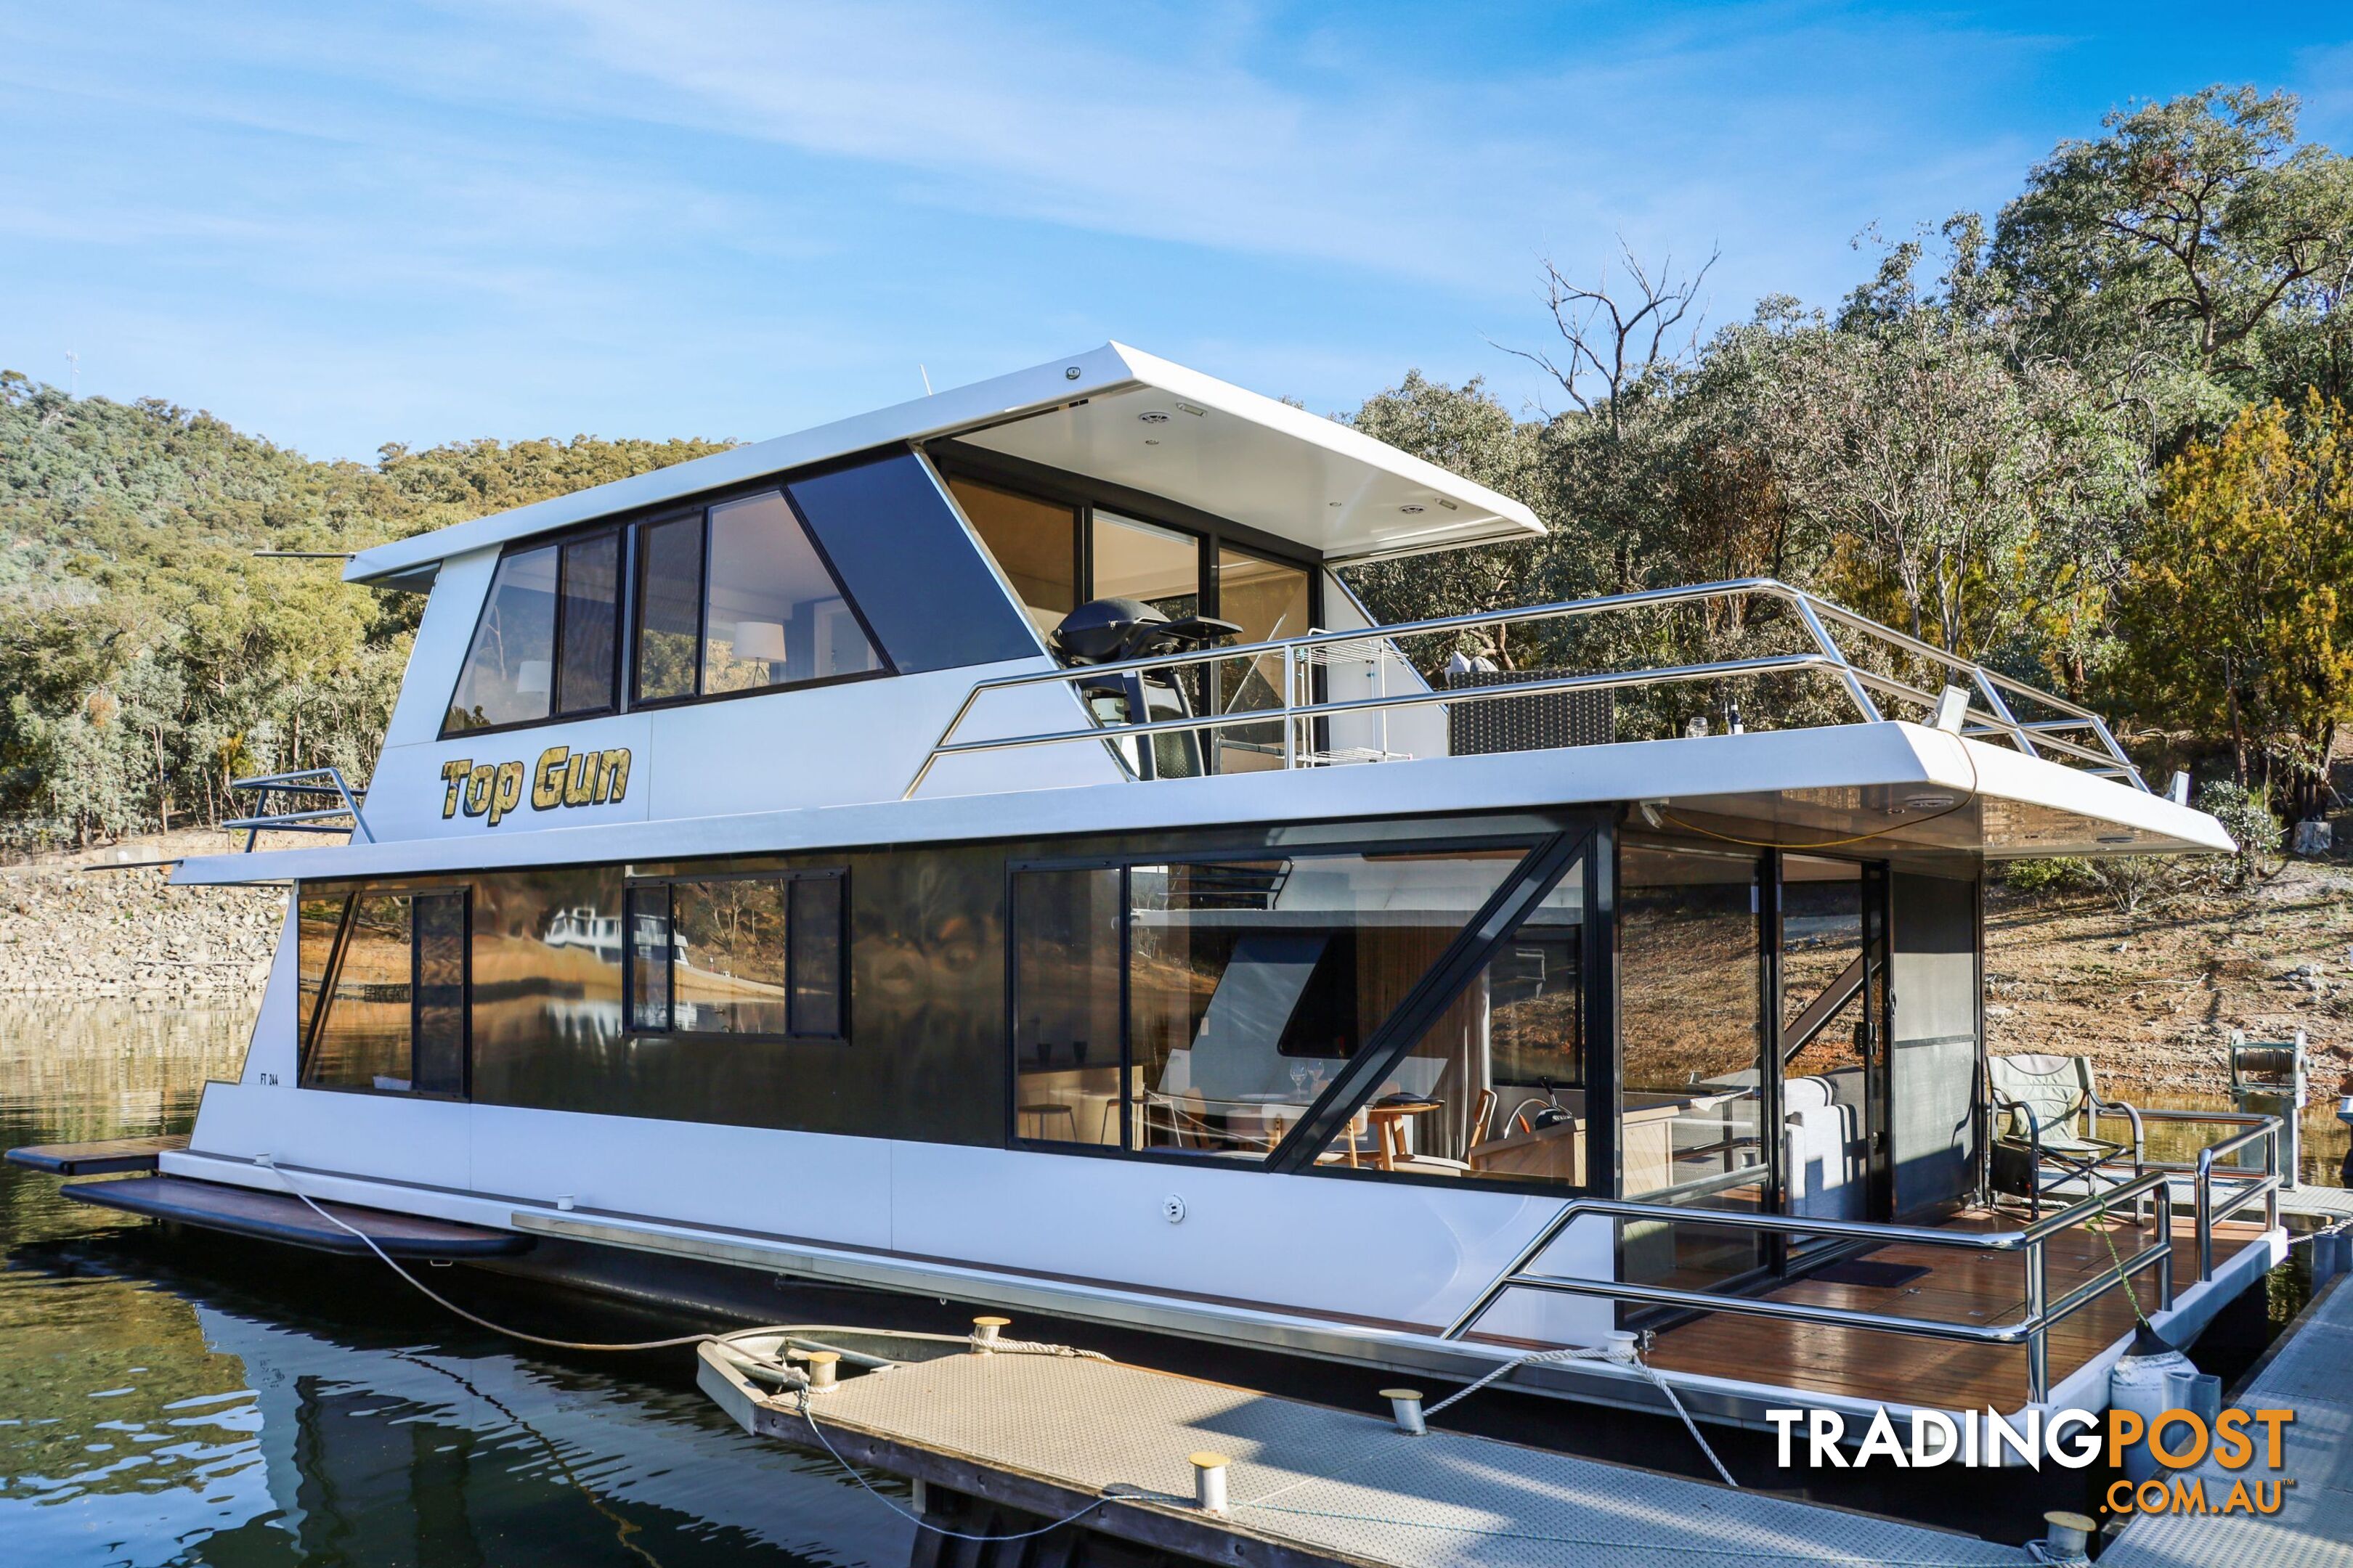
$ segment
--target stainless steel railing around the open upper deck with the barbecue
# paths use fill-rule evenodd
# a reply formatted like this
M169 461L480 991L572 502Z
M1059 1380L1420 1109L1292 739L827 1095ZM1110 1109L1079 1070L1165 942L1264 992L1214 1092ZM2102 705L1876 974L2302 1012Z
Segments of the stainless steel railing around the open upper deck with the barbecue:
M1311 672L1318 663L1337 663L1351 658L1381 658L1395 654L1398 639L1405 637L1438 637L1459 635L1489 628L1511 625L1539 625L1551 621L1574 621L1586 616L1624 614L1635 609L1659 609L1671 604L1694 604L1708 599L1772 599L1788 604L1812 651L1795 654L1769 654L1758 658L1725 658L1687 665L1657 665L1645 670L1591 670L1574 675L1541 675L1522 682L1501 682L1492 686L1464 686L1445 691L1402 691L1381 693L1369 698L1348 701L1313 701ZM1854 710L1854 719L1861 724L1875 724L1887 715L1880 710L1880 698L1892 698L1899 703L1918 703L1922 708L1937 708L1941 691L1929 691L1911 682L1882 675L1866 665L1854 663L1840 646L1831 628L1838 625L1849 632L1864 635L1880 649L1927 661L1929 665L1953 675L1958 679L1948 682L1960 686L1969 701L1962 710L1965 736L1998 738L2017 748L2028 757L2049 757L2071 764L2080 764L2087 771L2118 778L2137 790L2148 790L2141 780L2139 769L2115 743L2115 733L2108 729L2089 708L2080 708L2049 691L2038 691L2024 682L2014 682L2007 675L1998 675L1974 661L1960 658L1946 649L1920 642L1918 637L1906 637L1904 632L1880 625L1866 616L1859 616L1840 604L1821 599L1802 588L1791 588L1777 578L1729 578L1722 583L1697 583L1689 588L1657 588L1645 592L1621 592L1602 595L1593 599L1569 599L1560 604L1539 604L1529 609L1508 611L1482 611L1473 616L1438 616L1428 621L1402 621L1393 625L1377 625L1367 630L1348 632L1308 632L1304 637L1280 637L1273 642L1252 642L1221 649L1198 649L1191 654L1162 654L1153 658L1132 658L1111 665L1080 665L1066 670L1045 670L1038 675L1007 675L998 679L976 682L972 691L965 693L962 705L941 729L939 741L932 743L929 755L925 755L922 766L906 785L906 797L911 799L915 790L932 776L932 769L944 757L962 757L974 752L1002 752L1038 745L1068 745L1073 741L1125 741L1162 733L1195 733L1214 736L1226 729L1238 726L1282 726L1280 759L1285 769L1313 766L1318 757L1308 745L1301 743L1315 719L1329 719L1341 715L1386 715L1393 710L1426 708L1426 705L1454 705L1454 703L1497 703L1506 698L1525 698L1546 691L1612 691L1612 689L1642 689L1642 686L1666 686L1682 682L1704 679L1737 679L1758 675L1784 675L1784 672L1821 672L1833 677L1847 705ZM1351 649L1355 649L1351 654ZM1078 686L1099 684L1106 677L1122 675L1169 675L1176 670L1191 670L1195 665L1221 665L1221 663L1280 663L1280 677L1266 684L1280 698L1275 705L1266 708L1231 708L1224 712L1186 715L1174 719L1151 719L1151 722L1101 722L1089 717L1087 724L1075 724L1068 729L1033 731L1019 736L991 736L981 741L958 741L958 731L972 717L974 708L995 691L1014 691L1024 686L1047 686L1061 684L1078 696ZM2012 701L2024 701L2035 708L2045 708L2057 717L2047 719L2021 719ZM1266 748L1275 755L1275 748Z

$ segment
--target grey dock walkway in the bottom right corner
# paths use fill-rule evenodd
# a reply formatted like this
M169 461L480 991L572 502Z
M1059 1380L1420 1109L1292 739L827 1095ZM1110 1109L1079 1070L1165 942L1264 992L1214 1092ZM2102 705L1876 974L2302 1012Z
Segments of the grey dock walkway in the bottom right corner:
M2294 1410L2280 1476L2294 1479L2280 1512L2144 1514L2127 1523L2099 1568L2353 1568L2353 1284L2339 1279L2289 1324L2271 1359L2231 1399L2245 1410ZM2191 1476L2221 1500L2240 1476L2212 1460Z

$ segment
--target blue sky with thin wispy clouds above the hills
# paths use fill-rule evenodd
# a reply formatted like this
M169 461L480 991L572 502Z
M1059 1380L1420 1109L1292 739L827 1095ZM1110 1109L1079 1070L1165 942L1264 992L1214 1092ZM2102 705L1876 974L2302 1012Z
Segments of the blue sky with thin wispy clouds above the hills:
M2353 146L2353 12L0 0L0 364L346 458L762 437L1108 336L1532 407L1541 256L1833 301L1866 226L2217 80Z

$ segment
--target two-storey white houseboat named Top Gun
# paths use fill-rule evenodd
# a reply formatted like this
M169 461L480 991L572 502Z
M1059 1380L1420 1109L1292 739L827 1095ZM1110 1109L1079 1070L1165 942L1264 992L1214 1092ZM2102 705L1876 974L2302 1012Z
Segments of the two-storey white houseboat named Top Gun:
M374 778L172 872L292 889L242 1074L73 1192L1421 1378L1631 1331L1746 1425L2099 1406L2259 1281L2275 1128L2181 1213L1986 1053L1988 870L2231 849L2186 790L1777 581L1351 588L1541 531L1108 343L365 550Z

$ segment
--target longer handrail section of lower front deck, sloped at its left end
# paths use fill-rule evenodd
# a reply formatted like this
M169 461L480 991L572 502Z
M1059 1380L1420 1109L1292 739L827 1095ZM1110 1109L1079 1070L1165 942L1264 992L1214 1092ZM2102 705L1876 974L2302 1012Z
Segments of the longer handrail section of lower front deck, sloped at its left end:
M2254 1128L2245 1138L2259 1138L2264 1128ZM1769 1316L1791 1324L1824 1324L1835 1328L1864 1328L1875 1333L1901 1333L1929 1340L1955 1340L1969 1345L2021 1345L2026 1349L2026 1389L2028 1399L2040 1403L2049 1399L2049 1345L2047 1335L2054 1324L2073 1314L2078 1307L2106 1295L2113 1288L2129 1288L2132 1276L2144 1269L2158 1269L2158 1300L2160 1307L2172 1307L2174 1298L2174 1265L2172 1265L2172 1199L2169 1199L2169 1175L2165 1171L2148 1171L2094 1192L2068 1208L2040 1218L2024 1229L2000 1229L2000 1232L1955 1232L1937 1229L1929 1225L1875 1225L1871 1220L1826 1220L1807 1215L1777 1215L1755 1213L1739 1208L1689 1208L1680 1204L1649 1204L1635 1199L1600 1199L1579 1197L1562 1204L1537 1237L1520 1248L1504 1272L1499 1272L1452 1324L1440 1333L1445 1340L1464 1338L1480 1316L1487 1314L1508 1291L1539 1291L1551 1295L1584 1295L1602 1298L1617 1302L1642 1302L1652 1307L1682 1307L1692 1312L1729 1312L1737 1316ZM2144 1199L2155 1197L2158 1234L2153 1241L2144 1244L2129 1258L2111 1258L2108 1267L2099 1269L2073 1291L2061 1295L2057 1302L2049 1300L2049 1269L2045 1244L2064 1229L2073 1229L2085 1220L2113 1213L2118 1206L2139 1208ZM1892 1312L1868 1312L1861 1307L1824 1307L1814 1302L1791 1302L1772 1300L1762 1295L1725 1295L1715 1291L1685 1291L1678 1286L1647 1286L1624 1279L1569 1279L1560 1274L1534 1274L1532 1265L1560 1239L1560 1234L1586 1218L1612 1218L1612 1220L1664 1220L1671 1225L1704 1225L1715 1229L1746 1229L1762 1234L1791 1234L1791 1237L1835 1237L1852 1241L1908 1241L1915 1246L1946 1246L1955 1251L1984 1251L1984 1253L2021 1253L2026 1269L2026 1300L2019 1321L2014 1324L1958 1324L1948 1319L1929 1316L1899 1316ZM2200 1272L2205 1279L2207 1272Z

